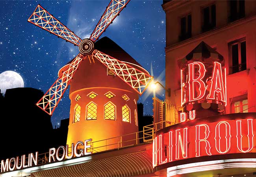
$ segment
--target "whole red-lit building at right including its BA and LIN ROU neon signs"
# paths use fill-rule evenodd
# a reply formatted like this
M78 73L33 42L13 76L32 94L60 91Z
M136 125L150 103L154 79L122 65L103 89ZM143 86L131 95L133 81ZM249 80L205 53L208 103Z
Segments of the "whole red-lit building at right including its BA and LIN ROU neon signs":
M171 89L166 99L176 107L171 112L178 116L172 122L180 124L156 132L155 174L252 176L256 168L255 1L164 1L162 6L165 84Z

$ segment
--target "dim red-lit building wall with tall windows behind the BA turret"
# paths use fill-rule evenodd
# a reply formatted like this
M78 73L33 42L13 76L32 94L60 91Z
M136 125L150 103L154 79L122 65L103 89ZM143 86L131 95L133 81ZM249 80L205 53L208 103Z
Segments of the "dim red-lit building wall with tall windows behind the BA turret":
M169 99L176 105L181 104L178 60L204 41L224 58L225 114L256 112L256 2L164 1L163 9L166 13L166 88L172 90ZM180 106L178 109L182 111Z

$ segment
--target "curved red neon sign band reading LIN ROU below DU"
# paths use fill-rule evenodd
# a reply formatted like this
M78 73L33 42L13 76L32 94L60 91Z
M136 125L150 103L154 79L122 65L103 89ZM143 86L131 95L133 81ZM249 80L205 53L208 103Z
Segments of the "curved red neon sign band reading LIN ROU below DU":
M248 115L215 116L207 122L199 118L156 132L153 167L194 157L256 153L256 119Z

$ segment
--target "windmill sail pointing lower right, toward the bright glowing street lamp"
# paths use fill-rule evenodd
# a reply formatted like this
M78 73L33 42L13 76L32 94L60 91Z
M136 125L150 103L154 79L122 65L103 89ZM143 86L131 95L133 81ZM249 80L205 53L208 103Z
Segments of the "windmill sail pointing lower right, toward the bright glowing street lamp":
M115 59L98 50L94 50L92 55L105 66L107 66L128 85L130 85L130 87L132 87L139 94L143 94L144 90L153 79L153 77L150 76L147 72L142 72L141 70L138 70L133 66L119 61L118 59Z

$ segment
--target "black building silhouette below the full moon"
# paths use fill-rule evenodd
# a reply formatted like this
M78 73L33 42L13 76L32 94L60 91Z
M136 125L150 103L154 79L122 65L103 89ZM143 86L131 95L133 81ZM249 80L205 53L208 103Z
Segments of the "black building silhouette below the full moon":
M66 140L58 138L65 132L65 124L56 131L50 115L35 105L43 95L43 91L33 88L7 89L4 96L0 94L1 160L65 145ZM60 137L66 138L67 131Z

